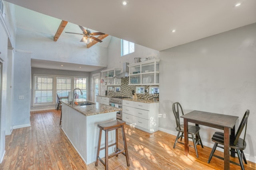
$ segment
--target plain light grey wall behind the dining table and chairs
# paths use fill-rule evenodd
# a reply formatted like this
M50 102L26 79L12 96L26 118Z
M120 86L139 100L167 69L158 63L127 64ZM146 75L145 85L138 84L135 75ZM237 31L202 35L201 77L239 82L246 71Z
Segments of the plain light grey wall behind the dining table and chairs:
M256 162L256 23L160 51L160 59L162 130L176 135L174 102L180 102L185 113L239 116L237 124L250 109L244 152ZM202 126L204 145L210 145L214 131Z

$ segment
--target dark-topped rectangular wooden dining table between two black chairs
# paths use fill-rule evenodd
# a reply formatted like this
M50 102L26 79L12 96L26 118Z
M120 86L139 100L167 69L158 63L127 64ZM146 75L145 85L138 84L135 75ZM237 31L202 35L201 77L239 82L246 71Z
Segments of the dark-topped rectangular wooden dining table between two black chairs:
M229 131L231 131L231 137L234 137L235 125L238 117L198 110L191 111L185 115L182 115L181 117L184 119L184 147L186 156L189 154L188 122L224 130L224 170L229 170Z

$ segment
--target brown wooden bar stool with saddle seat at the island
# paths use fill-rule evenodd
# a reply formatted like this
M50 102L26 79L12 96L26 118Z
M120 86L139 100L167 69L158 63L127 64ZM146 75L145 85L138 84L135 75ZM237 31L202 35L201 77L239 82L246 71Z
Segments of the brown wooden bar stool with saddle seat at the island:
M107 123L98 124L98 127L100 128L100 135L99 135L99 141L98 141L97 159L95 162L95 166L98 166L98 162L100 160L100 162L105 166L105 170L108 170L108 159L113 156L118 156L118 154L120 153L126 156L127 166L130 166L128 149L126 145L126 137L124 133L124 125L125 125L125 121L122 121L122 120L114 120ZM118 148L118 128L122 128L122 135L123 135L123 142L124 142L124 149L122 150ZM105 147L100 148L102 130L105 131ZM112 130L116 130L116 142L111 145L108 145L108 131L112 131ZM108 147L112 147L114 145L116 145L116 151L108 155ZM100 150L102 149L105 149L105 162L99 156Z

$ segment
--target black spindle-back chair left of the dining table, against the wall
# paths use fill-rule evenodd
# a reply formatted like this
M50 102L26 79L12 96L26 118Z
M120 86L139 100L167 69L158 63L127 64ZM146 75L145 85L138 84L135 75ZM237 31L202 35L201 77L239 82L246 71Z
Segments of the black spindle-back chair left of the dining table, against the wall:
M172 104L172 111L174 113L175 120L176 120L176 131L178 131L178 135L176 137L176 140L175 140L175 143L174 143L174 146L173 146L173 148L175 148L177 143L181 143L181 144L184 145L184 143L181 142L182 137L184 136L184 125L180 124L180 111L181 111L182 115L184 115L184 112L183 112L183 109L182 109L179 102L176 102L176 103ZM202 148L204 148L204 146L202 144L202 141L201 141L201 137L199 135L199 130L200 130L199 126L188 125L188 134L191 135L191 137L188 137L188 138L193 140L194 148L195 148L195 152L196 152L196 157L198 157L198 152L197 152L196 145L198 143L200 143ZM180 135L180 133L181 133L181 135ZM196 137L197 137L196 139L195 139L194 135L196 135ZM180 141L178 141L178 139L180 139ZM189 145L189 146L193 147L191 145Z

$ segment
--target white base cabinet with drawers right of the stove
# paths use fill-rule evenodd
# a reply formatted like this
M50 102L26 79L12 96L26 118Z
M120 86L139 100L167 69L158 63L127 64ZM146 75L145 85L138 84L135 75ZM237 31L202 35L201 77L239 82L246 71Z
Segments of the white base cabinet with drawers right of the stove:
M158 131L158 105L123 100L122 119L138 129L153 133Z

